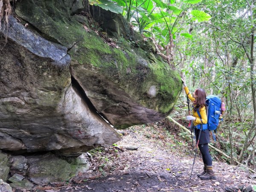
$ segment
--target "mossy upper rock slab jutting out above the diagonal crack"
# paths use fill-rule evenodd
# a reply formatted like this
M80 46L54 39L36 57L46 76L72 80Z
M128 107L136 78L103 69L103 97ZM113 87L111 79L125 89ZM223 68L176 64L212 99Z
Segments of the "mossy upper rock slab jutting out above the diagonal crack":
M23 0L16 4L15 12L45 38L69 48L71 75L96 110L116 128L168 115L182 83L177 71L155 54L154 44L134 32L121 15L93 7L90 14L116 38L116 45L107 44L86 19L72 16L71 2Z

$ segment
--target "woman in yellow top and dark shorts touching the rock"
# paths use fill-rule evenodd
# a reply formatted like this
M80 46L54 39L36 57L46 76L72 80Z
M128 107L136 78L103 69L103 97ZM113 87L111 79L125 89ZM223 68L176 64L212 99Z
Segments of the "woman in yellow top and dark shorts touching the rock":
M212 170L212 157L209 153L209 130L206 128L206 130L201 131L200 138L198 138L201 126L207 126L204 125L207 124L207 114L205 108L206 93L203 89L198 88L192 95L191 93L189 93L189 89L186 86L185 81L183 79L181 80L183 81L184 90L187 96L193 102L194 105L192 113L193 116L186 116L186 120L192 120L194 123L196 142L198 142L199 139L198 147L202 154L204 162L204 171L201 174L198 174L197 176L203 180L216 179L214 172ZM200 113L200 115L198 114L198 112Z

